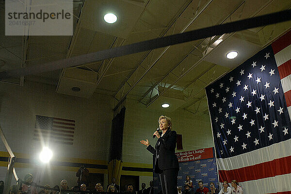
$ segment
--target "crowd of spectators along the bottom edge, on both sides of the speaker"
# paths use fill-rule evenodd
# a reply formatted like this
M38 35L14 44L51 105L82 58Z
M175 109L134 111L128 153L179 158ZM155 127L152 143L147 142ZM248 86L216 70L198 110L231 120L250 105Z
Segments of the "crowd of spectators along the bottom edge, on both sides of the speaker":
M101 183L97 183L95 185L94 190L88 190L88 183L83 183L78 180L78 186L74 186L72 188L68 187L68 182L64 179L61 181L60 186L55 185L54 187L51 187L50 185L44 185L42 188L36 188L32 183L33 176L32 174L27 174L24 177L24 182L19 188L19 191L16 191L16 185L11 186L9 194L101 194L101 193L128 193L128 194L134 194L135 190L132 184L125 185L123 190L120 190L119 185L115 183L115 178L112 178L112 183L107 186L107 188L104 188ZM29 183L32 183L30 185ZM149 182L150 187L146 188L146 183L142 183L142 189L137 191L138 194L153 194L153 181L151 180ZM215 187L213 182L210 182L210 189L204 187L204 184L202 181L198 181L199 188L194 190L193 188L193 182L190 180L190 177L186 177L186 182L184 185L184 190L182 191L182 194L243 194L243 189L241 186L239 186L239 183L236 180L231 181L231 186L229 186L229 183L227 181L223 182L223 188L219 191L218 188ZM0 181L0 194L3 193L4 188L4 182ZM46 189L48 188L48 189ZM180 189L178 189L178 193L181 192Z

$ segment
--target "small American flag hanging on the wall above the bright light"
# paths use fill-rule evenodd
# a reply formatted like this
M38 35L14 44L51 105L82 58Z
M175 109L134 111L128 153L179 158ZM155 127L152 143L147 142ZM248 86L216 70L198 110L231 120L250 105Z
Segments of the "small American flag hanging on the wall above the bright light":
M75 120L36 115L33 139L73 145Z

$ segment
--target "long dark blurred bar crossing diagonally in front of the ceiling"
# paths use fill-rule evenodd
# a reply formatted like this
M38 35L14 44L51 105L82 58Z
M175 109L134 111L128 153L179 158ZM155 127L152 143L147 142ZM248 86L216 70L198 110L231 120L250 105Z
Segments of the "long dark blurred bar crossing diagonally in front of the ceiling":
M162 48L168 45L176 45L186 43L194 40L203 39L205 37L214 36L217 34L224 34L233 31L240 31L246 29L256 28L258 26L265 26L291 20L291 10L284 10L272 14L260 15L254 18L247 18L235 22L216 25L204 29L193 30L181 34L170 35L163 38L147 40L144 42L134 43L131 45L120 46L117 48L102 50L95 53L85 54L69 59L57 60L47 62L42 65L33 65L15 70L7 70L0 72L0 79L9 77L20 77L23 75L40 74L44 72L59 70L62 68L73 67L84 63L100 61L104 59L111 59L133 53L143 52L154 48Z

